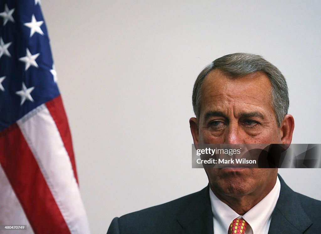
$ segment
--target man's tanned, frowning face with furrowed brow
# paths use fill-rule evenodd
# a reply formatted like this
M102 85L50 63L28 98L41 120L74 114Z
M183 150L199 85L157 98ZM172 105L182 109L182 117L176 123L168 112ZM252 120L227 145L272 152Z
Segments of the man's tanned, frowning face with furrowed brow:
M282 143L282 131L277 126L270 100L271 83L264 73L256 72L231 80L214 69L203 82L198 137L193 134L194 143ZM213 192L223 197L269 192L277 177L277 169L205 171Z

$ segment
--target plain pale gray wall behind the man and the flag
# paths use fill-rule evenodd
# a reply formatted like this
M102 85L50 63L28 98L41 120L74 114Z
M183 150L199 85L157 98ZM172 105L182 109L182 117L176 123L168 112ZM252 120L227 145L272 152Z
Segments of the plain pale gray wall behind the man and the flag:
M320 1L42 0L92 233L207 185L188 120L202 68L263 55L285 75L293 143L321 143ZM321 199L320 169L282 169Z

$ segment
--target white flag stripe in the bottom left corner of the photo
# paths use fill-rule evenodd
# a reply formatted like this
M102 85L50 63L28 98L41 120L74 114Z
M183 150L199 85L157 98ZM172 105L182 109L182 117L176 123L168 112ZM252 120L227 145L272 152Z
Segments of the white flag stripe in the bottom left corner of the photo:
M26 230L15 230L15 233L34 234L22 206L14 193L11 184L0 164L0 224L27 225ZM0 233L13 233L12 230L0 230Z

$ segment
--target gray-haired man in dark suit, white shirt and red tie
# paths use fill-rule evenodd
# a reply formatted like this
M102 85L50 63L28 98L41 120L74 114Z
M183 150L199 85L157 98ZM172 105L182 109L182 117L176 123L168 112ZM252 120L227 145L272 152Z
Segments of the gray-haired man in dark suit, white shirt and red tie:
M195 145L291 143L285 79L261 56L214 60L198 75L192 99ZM115 218L107 233L321 233L321 202L293 192L277 169L205 172L203 190Z

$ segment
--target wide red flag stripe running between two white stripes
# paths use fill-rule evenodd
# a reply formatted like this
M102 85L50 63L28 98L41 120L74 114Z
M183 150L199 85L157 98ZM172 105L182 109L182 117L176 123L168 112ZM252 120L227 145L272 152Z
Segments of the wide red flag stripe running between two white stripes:
M0 133L0 163L33 231L70 233L17 124Z

